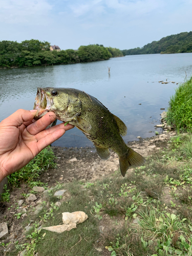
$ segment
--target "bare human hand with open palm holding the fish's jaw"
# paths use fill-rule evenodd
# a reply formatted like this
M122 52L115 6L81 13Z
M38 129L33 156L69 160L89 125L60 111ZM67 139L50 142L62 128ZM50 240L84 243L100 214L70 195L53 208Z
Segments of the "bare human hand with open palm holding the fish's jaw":
M36 112L20 109L0 123L0 182L74 127L60 123L45 130L56 116L49 112L34 121Z

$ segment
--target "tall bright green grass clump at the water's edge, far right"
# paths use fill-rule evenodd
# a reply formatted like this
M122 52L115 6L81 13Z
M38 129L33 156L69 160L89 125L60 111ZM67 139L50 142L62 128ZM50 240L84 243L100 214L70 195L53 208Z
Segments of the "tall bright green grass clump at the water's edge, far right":
M182 83L170 98L167 123L177 131L192 131L192 77Z

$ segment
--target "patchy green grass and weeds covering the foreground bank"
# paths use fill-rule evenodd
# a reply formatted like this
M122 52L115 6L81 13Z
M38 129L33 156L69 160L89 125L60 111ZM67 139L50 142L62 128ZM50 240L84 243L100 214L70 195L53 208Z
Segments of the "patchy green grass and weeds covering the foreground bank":
M168 149L148 157L125 178L118 170L95 182L57 184L55 189L67 189L69 197L59 208L53 190L39 214L28 217L34 224L25 244L15 244L6 255L24 249L28 256L192 255L192 164L190 151L184 150L191 138L173 137ZM77 210L89 218L76 229L60 234L38 229L59 225L62 212Z

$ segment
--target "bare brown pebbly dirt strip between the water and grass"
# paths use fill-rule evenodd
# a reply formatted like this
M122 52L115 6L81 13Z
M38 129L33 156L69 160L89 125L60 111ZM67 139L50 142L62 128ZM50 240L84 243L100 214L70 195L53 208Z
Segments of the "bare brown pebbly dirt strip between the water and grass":
M176 132L174 131L168 133L165 131L152 138L140 138L139 141L130 142L128 145L142 156L147 157L154 151L163 150L163 148L168 147L170 137L175 135ZM40 176L40 180L48 183L48 187L56 185L57 182L63 184L74 179L81 181L101 179L119 168L118 157L112 151L111 157L106 161L98 157L95 148L53 147L53 151L57 157L56 163L58 167L56 169L49 169L48 172ZM15 241L20 243L25 239L25 228L22 223L24 218L27 217L17 219L14 215L24 208L27 210L27 213L34 210L33 207L35 205L26 205L25 201L25 195L31 193L30 190L26 184L23 184L20 188L14 188L10 193L10 202L0 204L0 223L6 222L9 229L9 236L5 240L0 241L0 243L12 242L13 244ZM39 194L36 194L36 197L36 201L38 201L40 199ZM25 201L25 206L16 209L15 203L21 199Z

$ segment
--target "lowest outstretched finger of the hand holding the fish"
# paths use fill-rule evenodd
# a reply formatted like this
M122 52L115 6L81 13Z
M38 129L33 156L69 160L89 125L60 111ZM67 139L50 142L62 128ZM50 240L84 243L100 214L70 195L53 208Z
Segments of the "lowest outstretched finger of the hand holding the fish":
M65 134L64 129L58 129L53 133L48 134L44 138L40 139L37 142L37 147L39 152L43 150L46 146L49 146L51 143L53 143L55 140L59 139L63 134Z

